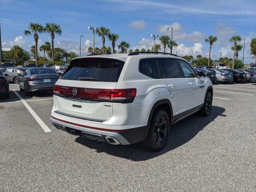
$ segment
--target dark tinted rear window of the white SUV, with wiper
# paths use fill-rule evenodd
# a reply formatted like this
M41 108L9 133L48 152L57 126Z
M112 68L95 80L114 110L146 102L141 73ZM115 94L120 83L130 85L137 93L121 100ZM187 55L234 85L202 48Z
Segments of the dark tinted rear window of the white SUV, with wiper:
M61 79L117 82L124 62L110 58L78 58L72 60Z

